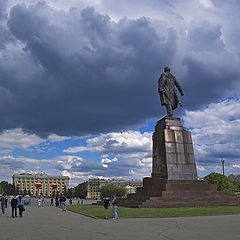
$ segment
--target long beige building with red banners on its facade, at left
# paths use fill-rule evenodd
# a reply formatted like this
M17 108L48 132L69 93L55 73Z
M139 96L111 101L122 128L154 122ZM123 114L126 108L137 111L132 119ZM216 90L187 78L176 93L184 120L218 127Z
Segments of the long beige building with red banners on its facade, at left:
M31 194L32 196L43 195L51 197L58 193L64 194L68 190L69 177L65 176L50 176L46 173L37 174L14 174L12 176L15 188L23 194ZM37 189L36 184L40 184ZM56 186L56 189L53 186Z

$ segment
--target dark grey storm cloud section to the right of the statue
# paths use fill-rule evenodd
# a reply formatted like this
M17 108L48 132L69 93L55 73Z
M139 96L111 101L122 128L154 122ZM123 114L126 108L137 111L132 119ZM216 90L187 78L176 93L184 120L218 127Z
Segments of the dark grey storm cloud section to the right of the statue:
M207 22L188 33L182 59L187 69L183 83L187 109L197 109L239 91L239 58L226 49L222 37L221 27Z

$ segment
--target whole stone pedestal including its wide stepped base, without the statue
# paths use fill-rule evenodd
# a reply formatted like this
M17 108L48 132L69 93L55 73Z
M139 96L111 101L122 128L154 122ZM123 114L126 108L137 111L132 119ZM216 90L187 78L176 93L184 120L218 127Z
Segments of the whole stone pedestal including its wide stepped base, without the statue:
M164 117L153 133L152 176L143 187L119 201L125 207L239 206L240 197L197 180L191 132L180 118Z

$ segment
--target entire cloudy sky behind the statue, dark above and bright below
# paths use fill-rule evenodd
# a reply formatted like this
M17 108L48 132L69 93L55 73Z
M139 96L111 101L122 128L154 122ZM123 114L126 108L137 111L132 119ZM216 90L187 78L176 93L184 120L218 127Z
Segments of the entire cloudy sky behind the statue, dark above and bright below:
M151 173L157 80L181 83L198 175L240 172L238 0L0 0L0 180Z

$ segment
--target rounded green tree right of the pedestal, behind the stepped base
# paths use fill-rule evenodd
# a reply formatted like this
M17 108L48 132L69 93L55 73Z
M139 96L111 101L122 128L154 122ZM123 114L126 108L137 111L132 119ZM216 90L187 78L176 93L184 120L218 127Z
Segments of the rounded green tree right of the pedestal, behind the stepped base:
M227 176L224 176L220 173L210 173L209 175L204 177L204 180L207 180L210 184L217 184L218 191L235 192L237 190L233 182Z

